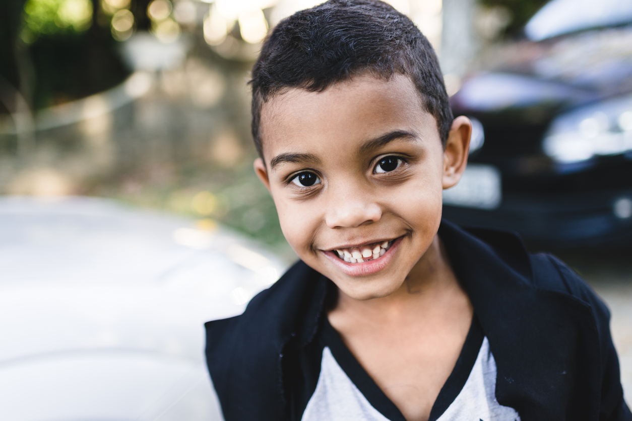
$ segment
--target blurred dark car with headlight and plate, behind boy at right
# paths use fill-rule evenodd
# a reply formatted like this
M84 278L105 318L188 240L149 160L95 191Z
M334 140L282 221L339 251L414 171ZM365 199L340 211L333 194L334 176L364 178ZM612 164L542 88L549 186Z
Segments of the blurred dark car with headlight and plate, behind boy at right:
M547 246L632 242L632 2L553 0L451 98L470 164L444 197L463 225Z

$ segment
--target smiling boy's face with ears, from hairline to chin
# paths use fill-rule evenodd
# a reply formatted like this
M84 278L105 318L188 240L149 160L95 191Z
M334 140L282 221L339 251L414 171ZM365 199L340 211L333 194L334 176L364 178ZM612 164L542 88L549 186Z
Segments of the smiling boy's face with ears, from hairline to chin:
M273 97L261 131L255 170L296 254L353 299L402 288L430 254L442 189L465 169L469 121L455 119L444 151L408 77L365 74Z

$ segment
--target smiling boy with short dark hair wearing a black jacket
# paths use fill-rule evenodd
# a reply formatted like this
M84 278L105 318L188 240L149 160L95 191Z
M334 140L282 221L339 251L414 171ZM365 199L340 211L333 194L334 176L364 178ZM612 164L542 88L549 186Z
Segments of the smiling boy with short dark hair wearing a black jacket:
M258 177L301 258L207 323L233 420L632 420L605 305L511 234L441 221L471 126L377 0L290 16L252 73Z

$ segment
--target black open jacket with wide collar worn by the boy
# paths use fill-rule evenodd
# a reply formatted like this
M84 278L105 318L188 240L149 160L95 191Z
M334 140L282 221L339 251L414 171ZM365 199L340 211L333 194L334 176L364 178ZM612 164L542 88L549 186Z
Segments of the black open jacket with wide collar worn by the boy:
M439 228L497 365L496 398L522 421L632 420L604 303L568 266L506 232ZM298 262L237 317L206 323L226 421L289 419L289 384L322 317L327 280Z

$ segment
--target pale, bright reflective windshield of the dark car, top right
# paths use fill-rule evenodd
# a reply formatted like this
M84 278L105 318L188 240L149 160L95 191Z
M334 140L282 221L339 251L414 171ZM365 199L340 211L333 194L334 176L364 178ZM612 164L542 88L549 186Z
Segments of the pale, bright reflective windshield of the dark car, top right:
M552 0L526 24L526 36L540 41L564 33L632 22L630 0Z

